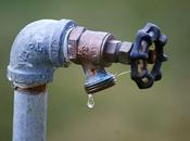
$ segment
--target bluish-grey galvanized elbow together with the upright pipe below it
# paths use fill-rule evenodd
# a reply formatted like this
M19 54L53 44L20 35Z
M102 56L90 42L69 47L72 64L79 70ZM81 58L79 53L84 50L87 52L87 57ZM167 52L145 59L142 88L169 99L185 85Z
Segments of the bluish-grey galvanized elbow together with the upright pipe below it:
M8 78L14 87L13 141L46 141L46 85L69 63L67 38L76 23L41 20L24 27L12 46Z

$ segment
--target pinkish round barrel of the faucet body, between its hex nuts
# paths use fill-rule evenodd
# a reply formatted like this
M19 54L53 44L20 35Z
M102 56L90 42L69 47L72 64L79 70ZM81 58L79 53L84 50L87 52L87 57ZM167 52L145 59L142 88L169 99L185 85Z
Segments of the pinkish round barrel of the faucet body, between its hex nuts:
M88 60L94 64L103 65L102 51L105 43L113 39L111 34L86 30L78 42L77 55L79 60Z

